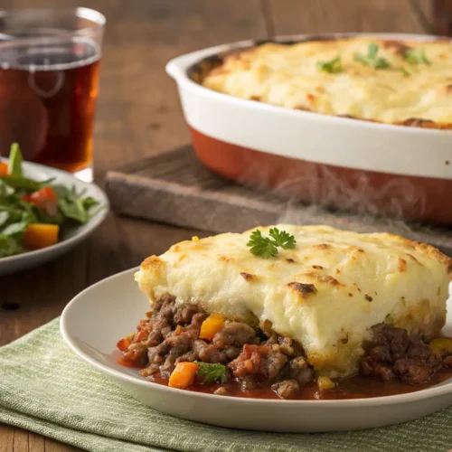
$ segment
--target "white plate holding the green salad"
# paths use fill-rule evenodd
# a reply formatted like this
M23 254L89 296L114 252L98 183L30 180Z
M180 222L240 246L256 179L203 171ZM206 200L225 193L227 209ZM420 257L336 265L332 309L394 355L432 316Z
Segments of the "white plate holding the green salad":
M6 162L5 159L0 159ZM32 164L24 162L24 175L35 179L37 181L45 181L46 179L55 178L55 184L62 184L68 187L75 187L78 192L85 190L87 196L92 196L99 201L100 205L105 205L105 208L98 212L97 215L87 224L81 224L71 228L60 242L52 247L44 248L42 250L28 251L24 254L11 256L8 258L0 258L0 275L13 273L14 271L24 270L25 268L36 267L48 260L56 259L61 254L74 248L81 240L86 239L99 224L104 221L108 213L108 198L105 193L95 184L86 184L75 178L72 174L66 173L48 166Z

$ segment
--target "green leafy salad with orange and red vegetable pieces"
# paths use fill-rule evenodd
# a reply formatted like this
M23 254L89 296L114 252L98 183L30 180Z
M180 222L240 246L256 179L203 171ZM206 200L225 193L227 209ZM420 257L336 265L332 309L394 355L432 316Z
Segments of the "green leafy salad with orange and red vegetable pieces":
M102 208L75 187L26 177L22 162L16 143L8 164L0 162L0 258L51 246Z

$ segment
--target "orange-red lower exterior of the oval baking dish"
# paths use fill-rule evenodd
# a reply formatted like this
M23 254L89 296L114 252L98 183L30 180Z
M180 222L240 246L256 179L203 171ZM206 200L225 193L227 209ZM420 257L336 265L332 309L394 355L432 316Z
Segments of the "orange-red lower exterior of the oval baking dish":
M317 164L235 146L189 128L202 163L240 184L352 212L452 224L452 180Z

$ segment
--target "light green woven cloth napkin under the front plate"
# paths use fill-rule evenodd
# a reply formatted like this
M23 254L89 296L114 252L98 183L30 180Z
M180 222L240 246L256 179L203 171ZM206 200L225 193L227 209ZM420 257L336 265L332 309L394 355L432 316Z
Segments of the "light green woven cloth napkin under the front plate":
M261 433L176 419L132 399L63 343L59 320L0 348L0 421L93 452L447 452L452 409L400 426Z

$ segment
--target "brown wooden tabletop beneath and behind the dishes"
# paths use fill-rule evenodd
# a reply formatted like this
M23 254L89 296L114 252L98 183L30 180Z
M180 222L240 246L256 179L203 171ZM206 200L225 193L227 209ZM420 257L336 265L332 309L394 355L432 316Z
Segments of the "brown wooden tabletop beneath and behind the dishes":
M35 5L34 0L2 0L0 7ZM90 0L84 5L108 18L95 131L99 184L108 169L188 141L174 82L164 69L175 55L273 34L428 33L425 18L431 17L428 0ZM81 289L193 233L110 214L77 250L41 268L0 278L0 305L20 306L0 309L0 345L60 315ZM70 450L78 449L0 424L0 452Z

